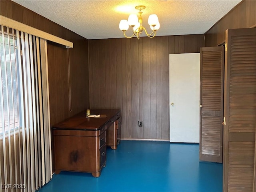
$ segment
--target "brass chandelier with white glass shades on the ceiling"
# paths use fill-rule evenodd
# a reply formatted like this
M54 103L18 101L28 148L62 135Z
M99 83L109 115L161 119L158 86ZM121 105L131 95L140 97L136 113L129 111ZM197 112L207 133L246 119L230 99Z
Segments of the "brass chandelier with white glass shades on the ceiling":
M143 9L145 9L146 7L143 5L139 5L135 7L136 10L140 10L139 16L137 17L136 14L130 14L130 16L128 17L128 20L121 20L119 23L119 28L121 31L124 32L124 36L126 38L132 38L133 36L137 36L138 39L140 39L140 34L142 34L143 30L145 31L146 35L150 38L153 38L154 36L156 36L156 30L158 30L160 28L160 23L158 21L158 17L156 14L152 14L148 17L148 24L150 25L150 29L152 30L151 34L148 34L146 28L144 28L144 26L142 26L142 11ZM129 25L132 27L133 30L133 34L132 36L128 37L126 36L125 32L128 30Z

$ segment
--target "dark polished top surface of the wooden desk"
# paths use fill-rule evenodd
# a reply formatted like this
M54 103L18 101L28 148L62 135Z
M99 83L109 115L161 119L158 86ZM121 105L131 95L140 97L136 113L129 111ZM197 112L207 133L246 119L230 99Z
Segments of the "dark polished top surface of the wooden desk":
M80 112L58 124L55 124L52 129L62 130L99 130L110 119L116 116L120 110L118 109L101 109L90 110L91 115L104 114L106 117L86 118L86 111Z

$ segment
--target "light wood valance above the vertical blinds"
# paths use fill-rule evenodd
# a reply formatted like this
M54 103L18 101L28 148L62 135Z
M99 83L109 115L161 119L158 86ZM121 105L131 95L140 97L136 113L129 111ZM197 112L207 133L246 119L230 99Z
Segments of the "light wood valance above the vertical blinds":
M10 27L10 28L19 30L19 31L26 32L26 33L34 35L34 36L38 36L40 38L44 38L44 39L52 41L52 42L56 42L58 44L66 46L66 48L73 48L73 43L70 41L59 38L57 36L46 33L44 31L41 31L34 27L28 26L28 25L18 22L16 20L12 20L12 19L7 18L2 15L0 15L0 24L3 26L6 26L6 27Z

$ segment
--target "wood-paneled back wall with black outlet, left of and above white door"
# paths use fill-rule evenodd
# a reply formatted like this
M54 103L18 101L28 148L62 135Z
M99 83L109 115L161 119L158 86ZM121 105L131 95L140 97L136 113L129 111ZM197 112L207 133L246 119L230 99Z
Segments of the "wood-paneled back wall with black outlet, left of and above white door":
M200 47L203 34L88 40L90 108L121 109L121 138L169 139L169 54Z

